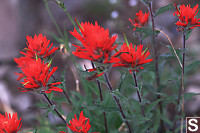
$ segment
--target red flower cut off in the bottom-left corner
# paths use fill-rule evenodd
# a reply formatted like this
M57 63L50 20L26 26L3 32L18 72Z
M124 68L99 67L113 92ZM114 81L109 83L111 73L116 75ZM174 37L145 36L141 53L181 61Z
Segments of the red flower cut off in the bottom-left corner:
M17 113L12 116L7 112L5 116L0 114L0 133L17 133L22 126L21 119L18 120Z

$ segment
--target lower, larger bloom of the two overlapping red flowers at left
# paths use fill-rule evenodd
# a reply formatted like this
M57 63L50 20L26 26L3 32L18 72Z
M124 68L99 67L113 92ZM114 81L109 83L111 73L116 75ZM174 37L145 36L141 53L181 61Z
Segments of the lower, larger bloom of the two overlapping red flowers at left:
M18 80L23 78L23 82L20 83L23 84L24 88L19 88L22 92L38 91L40 88L41 90L39 91L45 93L50 93L51 91L63 91L54 86L61 84L61 82L48 83L49 78L57 70L57 67L53 67L50 71L51 65L49 63L44 64L44 61L41 61L41 59L25 62L25 60L19 58L15 59L15 61L22 70L22 73L16 73L16 75L19 75Z

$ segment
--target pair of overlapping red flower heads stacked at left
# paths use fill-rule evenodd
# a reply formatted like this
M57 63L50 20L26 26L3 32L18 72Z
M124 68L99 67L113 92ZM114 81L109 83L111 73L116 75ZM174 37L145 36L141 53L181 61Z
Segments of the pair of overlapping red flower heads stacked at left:
M34 91L34 92L45 92L50 93L51 91L62 92L63 90L54 86L61 84L61 82L49 83L49 78L56 71L57 67L53 67L50 70L51 62L45 63L45 58L53 54L58 48L54 47L52 50L52 44L48 47L50 41L39 34L38 37L35 35L34 39L27 36L27 53L21 52L25 57L15 58L15 62L18 67L21 68L21 73L17 80L23 79L22 83L24 88L19 88L22 92Z

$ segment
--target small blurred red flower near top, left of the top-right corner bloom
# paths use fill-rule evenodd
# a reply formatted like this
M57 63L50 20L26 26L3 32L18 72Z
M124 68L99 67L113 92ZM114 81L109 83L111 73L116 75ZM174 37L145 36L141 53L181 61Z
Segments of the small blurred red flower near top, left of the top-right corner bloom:
M149 19L149 12L148 13L142 13L142 11L140 10L139 13L136 13L137 18L134 19L134 22L129 18L129 21L131 22L131 24L134 27L143 27L146 23L148 23L148 19ZM135 30L135 28L133 29Z

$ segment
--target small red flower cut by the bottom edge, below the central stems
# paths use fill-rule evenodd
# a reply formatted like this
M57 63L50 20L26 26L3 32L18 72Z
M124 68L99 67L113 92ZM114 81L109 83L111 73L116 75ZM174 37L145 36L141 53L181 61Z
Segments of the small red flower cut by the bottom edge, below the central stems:
M76 115L74 115L74 118L72 118L72 121L70 120L69 123L70 125L67 124L67 126L76 133L87 133L91 127L90 121L83 115L83 111L80 113L79 120Z

